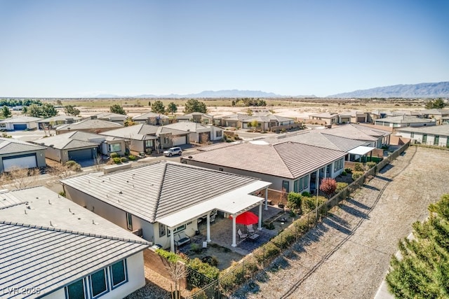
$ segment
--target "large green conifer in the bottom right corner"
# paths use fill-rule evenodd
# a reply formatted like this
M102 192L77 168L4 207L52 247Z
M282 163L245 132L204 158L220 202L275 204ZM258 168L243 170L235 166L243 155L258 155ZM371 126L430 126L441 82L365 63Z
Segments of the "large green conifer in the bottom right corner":
M399 244L391 257L389 291L396 298L449 297L449 194L429 205L429 218L413 223L413 239Z

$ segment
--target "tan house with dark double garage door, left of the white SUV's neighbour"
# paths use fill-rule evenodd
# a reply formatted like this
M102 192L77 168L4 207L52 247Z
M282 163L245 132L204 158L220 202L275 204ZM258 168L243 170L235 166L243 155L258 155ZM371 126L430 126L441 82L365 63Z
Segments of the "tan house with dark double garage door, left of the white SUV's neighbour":
M100 154L107 156L110 156L111 153L124 155L126 152L124 139L83 131L45 137L37 139L34 143L46 146L46 158L61 163L69 160L95 162L95 158Z

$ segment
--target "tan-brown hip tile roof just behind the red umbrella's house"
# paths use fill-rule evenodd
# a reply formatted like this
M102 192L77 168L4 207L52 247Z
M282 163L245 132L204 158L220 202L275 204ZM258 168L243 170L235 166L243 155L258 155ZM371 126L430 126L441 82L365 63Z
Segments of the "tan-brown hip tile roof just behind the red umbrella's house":
M321 148L285 141L279 144L236 144L217 148L189 156L194 160L220 165L248 172L269 174L288 179L296 179L330 162L344 157L346 153L329 148ZM192 158L189 158L192 157Z

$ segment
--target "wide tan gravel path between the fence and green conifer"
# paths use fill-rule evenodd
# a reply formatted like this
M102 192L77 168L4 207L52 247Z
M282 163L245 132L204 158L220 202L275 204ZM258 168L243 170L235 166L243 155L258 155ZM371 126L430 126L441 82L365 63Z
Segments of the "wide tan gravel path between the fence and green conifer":
M398 240L449 193L449 151L412 146L234 298L373 298Z

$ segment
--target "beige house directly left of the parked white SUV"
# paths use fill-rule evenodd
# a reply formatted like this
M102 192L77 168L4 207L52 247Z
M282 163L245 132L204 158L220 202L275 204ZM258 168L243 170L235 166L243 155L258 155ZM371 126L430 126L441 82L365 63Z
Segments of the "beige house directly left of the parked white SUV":
M111 137L126 139L130 151L151 153L163 148L181 146L189 143L189 132L170 129L166 126L132 125L100 133Z

